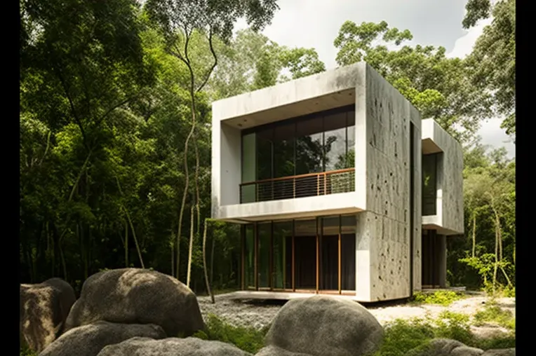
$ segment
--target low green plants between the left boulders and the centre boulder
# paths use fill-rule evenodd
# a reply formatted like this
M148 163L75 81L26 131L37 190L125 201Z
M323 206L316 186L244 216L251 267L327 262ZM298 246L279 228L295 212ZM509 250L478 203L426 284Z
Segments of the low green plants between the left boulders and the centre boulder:
M264 336L267 331L267 328L257 330L252 327L234 327L216 315L209 314L206 330L198 331L194 337L231 343L241 350L255 354L264 347Z

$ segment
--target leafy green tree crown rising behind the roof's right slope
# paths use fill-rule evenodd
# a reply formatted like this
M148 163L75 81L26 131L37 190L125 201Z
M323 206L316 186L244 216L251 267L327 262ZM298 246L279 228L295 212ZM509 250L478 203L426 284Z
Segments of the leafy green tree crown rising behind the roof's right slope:
M446 57L443 47L402 46L411 39L408 29L390 28L384 21L344 22L334 41L339 50L337 64L366 61L400 90L423 118L434 118L451 135L467 142L481 119L490 116L489 95L471 85L473 69L467 62Z

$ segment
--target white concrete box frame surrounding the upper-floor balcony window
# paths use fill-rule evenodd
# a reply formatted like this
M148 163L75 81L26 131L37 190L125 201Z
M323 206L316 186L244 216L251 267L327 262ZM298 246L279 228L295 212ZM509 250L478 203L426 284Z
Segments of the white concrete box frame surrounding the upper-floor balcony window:
M248 204L240 204L240 132L283 118L356 103L356 93L365 88L365 69L364 63L358 63L214 102L212 217L227 221L260 221L362 211L366 203L366 156L363 150L357 149L361 147L358 143L361 132L357 125L356 191ZM359 95L362 100L363 93ZM216 147L220 147L220 151Z

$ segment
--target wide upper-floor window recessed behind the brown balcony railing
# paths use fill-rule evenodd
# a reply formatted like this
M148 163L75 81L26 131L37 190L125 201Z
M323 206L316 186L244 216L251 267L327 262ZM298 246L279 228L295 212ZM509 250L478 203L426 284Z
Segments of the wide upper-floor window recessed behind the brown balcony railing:
M354 191L354 105L244 130L242 140L242 203Z

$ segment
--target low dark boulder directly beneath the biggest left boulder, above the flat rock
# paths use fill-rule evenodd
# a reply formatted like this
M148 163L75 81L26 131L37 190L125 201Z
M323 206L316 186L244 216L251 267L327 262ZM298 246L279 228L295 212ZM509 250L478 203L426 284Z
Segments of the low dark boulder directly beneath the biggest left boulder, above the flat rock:
M96 356L107 345L120 343L135 336L165 338L166 333L154 324L114 324L95 322L67 331L39 356Z

